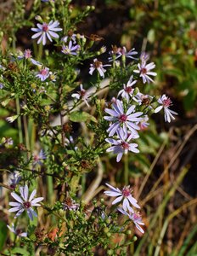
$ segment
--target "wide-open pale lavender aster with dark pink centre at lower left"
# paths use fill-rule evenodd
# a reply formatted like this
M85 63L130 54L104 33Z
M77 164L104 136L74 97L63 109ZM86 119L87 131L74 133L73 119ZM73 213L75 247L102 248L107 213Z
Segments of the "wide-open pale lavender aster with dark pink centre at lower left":
M43 197L34 198L36 194L37 189L34 189L28 199L29 188L27 187L27 185L25 185L25 187L20 187L20 195L12 192L11 195L16 201L9 202L9 206L13 208L10 208L8 212L17 212L14 217L17 218L22 212L26 211L29 218L33 220L33 216L37 217L37 212L35 212L32 207L40 207L40 204L38 204L38 202L43 200Z

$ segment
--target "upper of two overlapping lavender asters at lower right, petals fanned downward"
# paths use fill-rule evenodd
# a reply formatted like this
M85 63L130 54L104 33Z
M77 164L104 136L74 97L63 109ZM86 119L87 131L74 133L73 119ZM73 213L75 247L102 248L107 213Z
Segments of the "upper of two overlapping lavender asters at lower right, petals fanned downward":
M115 189L108 183L106 183L106 185L110 188L110 190L104 191L104 194L117 197L114 201L112 201L112 205L115 205L116 203L119 203L123 200L122 207L125 211L128 210L129 212L134 212L130 204L133 207L140 208L137 204L138 201L134 197L132 197L132 190L130 189L130 186L125 186L123 189L120 190L118 188Z

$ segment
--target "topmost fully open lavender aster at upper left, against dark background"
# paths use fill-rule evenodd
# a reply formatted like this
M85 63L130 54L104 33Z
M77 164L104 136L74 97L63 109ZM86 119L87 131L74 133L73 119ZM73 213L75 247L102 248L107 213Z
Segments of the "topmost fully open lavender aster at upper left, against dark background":
M57 20L54 22L51 20L49 23L44 22L43 24L37 23L38 28L31 28L31 31L37 32L31 38L34 39L40 37L37 40L37 44L42 42L42 44L45 45L47 38L52 42L52 38L59 38L59 35L56 32L62 31L62 28L57 26L59 26L59 21Z

